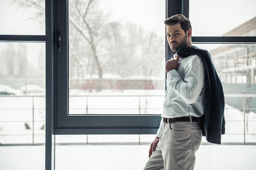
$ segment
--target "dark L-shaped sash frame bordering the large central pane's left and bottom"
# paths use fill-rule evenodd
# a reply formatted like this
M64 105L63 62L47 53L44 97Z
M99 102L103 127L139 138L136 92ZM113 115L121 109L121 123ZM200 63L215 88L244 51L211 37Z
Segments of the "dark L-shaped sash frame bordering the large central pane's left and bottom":
M68 2L56 1L56 33L61 31L61 51L54 45L53 87L54 135L155 134L161 117L157 115L69 115L68 111Z

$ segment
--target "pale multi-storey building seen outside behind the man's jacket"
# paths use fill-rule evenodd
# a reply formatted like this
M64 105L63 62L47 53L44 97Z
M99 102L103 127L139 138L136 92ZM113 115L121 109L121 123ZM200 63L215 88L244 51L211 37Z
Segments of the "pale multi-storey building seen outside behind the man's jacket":
M256 36L256 17L223 36ZM222 83L255 84L256 44L221 44L210 54Z

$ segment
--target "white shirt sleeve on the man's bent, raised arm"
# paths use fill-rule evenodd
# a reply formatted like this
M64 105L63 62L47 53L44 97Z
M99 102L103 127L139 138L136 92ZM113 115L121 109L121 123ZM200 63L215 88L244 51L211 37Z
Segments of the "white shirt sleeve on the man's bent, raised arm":
M181 61L184 68L184 80L177 70L170 70L166 83L188 104L194 103L204 87L204 63L198 55Z

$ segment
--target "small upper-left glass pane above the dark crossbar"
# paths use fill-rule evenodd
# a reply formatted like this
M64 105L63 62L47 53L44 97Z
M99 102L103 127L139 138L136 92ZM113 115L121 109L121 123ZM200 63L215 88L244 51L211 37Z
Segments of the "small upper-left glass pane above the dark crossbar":
M45 35L45 0L1 0L0 35Z

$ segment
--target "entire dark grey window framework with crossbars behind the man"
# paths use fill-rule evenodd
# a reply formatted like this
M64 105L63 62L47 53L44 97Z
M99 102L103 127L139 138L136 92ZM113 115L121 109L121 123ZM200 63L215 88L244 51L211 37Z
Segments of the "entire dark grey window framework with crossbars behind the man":
M68 92L68 72L56 69L68 67L68 59L63 57L67 56L67 50L58 52L56 48L58 30L62 31L62 49L68 48L67 0L65 2L46 1L46 35L0 35L2 42L46 42L46 109L52 117L53 134L154 134L159 115L68 116L68 94L63 93ZM189 0L166 0L166 17L177 13L189 17ZM64 20L59 19L60 16L65 16ZM256 37L193 37L192 41L195 44L248 44L256 43ZM166 60L172 55L166 43ZM62 84L63 80L66 83Z

